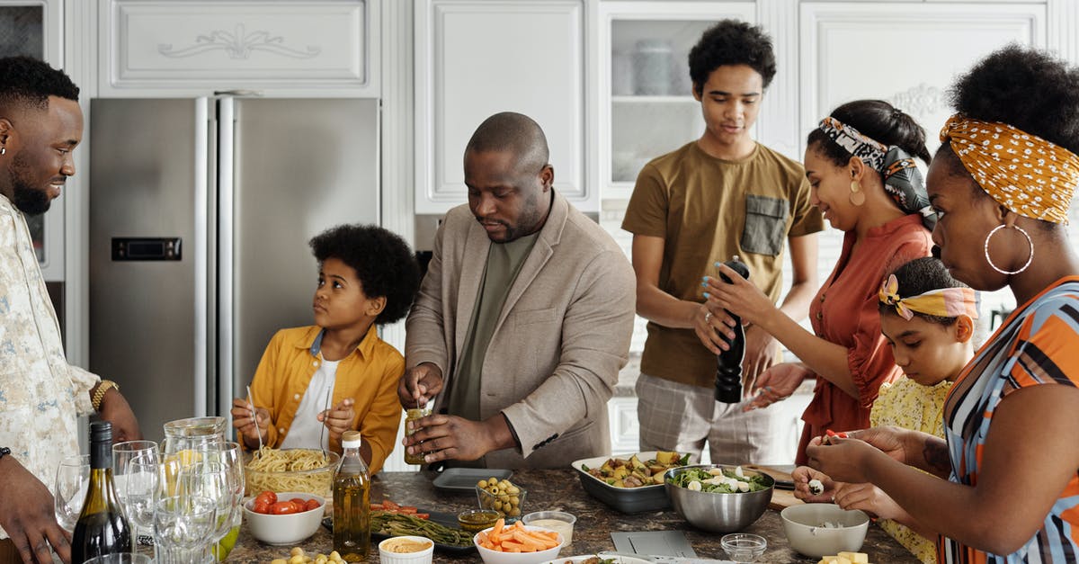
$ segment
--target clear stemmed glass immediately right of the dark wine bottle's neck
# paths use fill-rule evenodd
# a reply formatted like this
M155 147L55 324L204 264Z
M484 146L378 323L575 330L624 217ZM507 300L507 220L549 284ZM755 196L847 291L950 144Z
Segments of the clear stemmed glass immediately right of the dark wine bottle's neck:
M161 454L158 449L158 443L153 441L127 441L112 445L112 482L120 508L134 527L136 541L141 540L139 537L140 528L146 529L153 526L152 521L137 519L136 513L142 509L145 518L145 506L150 505L152 515L153 493L158 476L156 466L160 462ZM136 508L133 503L142 503L144 508ZM150 519L152 520L152 516Z

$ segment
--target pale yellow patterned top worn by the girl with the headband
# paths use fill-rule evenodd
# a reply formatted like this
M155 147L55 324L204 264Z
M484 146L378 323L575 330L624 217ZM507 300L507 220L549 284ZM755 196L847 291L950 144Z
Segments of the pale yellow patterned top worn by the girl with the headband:
M880 394L873 403L870 425L894 425L924 433L944 435L944 399L952 388L945 380L937 386L921 386L905 376L880 386ZM896 523L882 519L880 528L925 564L937 564L937 542Z

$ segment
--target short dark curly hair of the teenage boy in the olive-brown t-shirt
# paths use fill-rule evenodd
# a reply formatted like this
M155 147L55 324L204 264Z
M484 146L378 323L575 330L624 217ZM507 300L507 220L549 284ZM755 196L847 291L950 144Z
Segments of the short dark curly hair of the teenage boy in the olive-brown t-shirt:
M689 50L689 79L701 94L709 75L727 65L746 65L764 79L767 89L776 76L776 53L771 38L761 26L738 19L723 19L705 30Z

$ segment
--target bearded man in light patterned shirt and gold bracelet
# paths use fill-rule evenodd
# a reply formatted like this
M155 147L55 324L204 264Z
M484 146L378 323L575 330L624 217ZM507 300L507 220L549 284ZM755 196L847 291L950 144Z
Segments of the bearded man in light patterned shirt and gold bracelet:
M139 439L115 385L68 364L24 215L60 194L81 139L78 86L40 61L0 58L0 564L51 563L50 546L70 561L46 484L79 453L78 416L97 411L114 441Z

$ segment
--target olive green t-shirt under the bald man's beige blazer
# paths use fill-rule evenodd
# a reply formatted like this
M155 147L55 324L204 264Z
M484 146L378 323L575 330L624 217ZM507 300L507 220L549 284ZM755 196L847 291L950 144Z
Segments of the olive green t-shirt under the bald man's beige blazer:
M487 254L487 266L480 280L479 294L473 309L468 334L461 349L461 361L453 373L448 402L449 413L472 421L480 419L479 388L483 372L483 357L494 334L502 306L506 303L509 287L517 280L524 259L535 246L540 232L515 239L508 243L491 243ZM514 354L513 351L504 351Z

